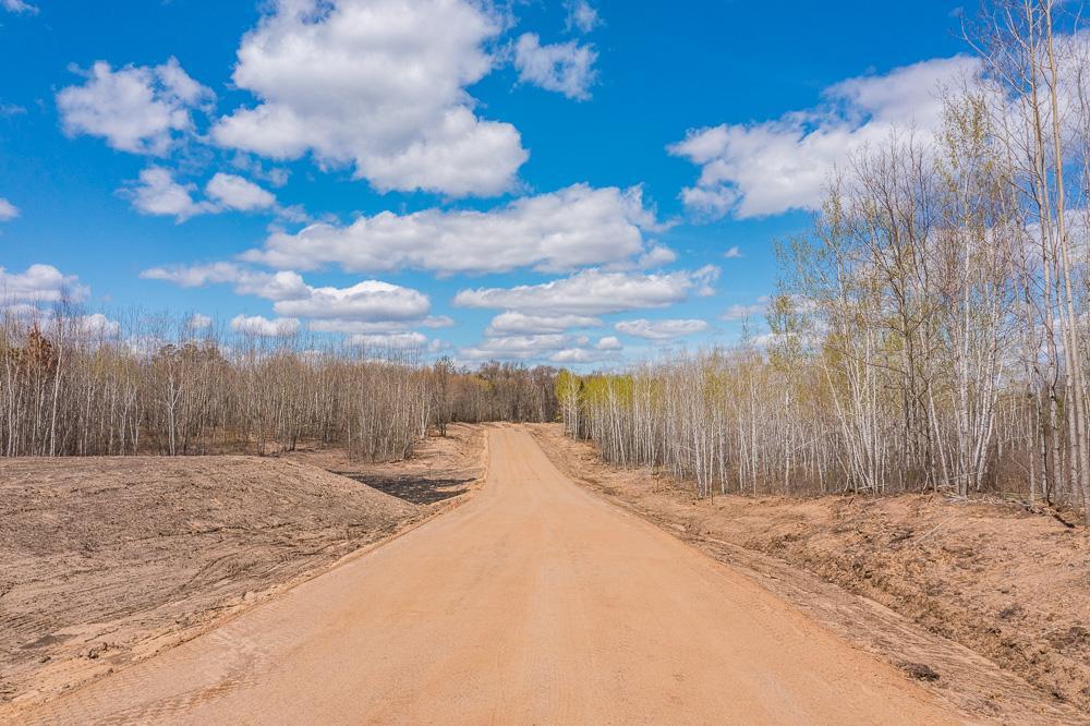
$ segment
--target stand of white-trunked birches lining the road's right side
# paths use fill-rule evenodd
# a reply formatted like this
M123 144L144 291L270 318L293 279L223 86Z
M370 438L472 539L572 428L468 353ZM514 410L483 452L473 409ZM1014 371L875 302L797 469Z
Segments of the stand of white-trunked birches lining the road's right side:
M1077 4L1077 3L1076 3ZM934 133L846 159L779 245L770 332L558 379L569 433L695 493L1090 500L1090 33L991 2ZM1090 507L1087 508L1090 521Z

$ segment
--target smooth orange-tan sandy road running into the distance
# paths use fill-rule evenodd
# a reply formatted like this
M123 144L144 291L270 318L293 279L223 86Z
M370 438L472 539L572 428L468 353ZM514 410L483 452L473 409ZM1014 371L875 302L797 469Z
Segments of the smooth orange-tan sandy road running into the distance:
M947 723L903 675L491 433L453 512L29 723Z

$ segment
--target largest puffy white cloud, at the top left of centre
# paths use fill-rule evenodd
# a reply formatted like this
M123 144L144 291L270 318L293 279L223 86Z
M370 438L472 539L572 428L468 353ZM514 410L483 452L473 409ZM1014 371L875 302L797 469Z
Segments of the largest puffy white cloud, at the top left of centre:
M258 98L220 119L222 146L352 165L380 191L494 195L528 158L518 130L481 119L467 87L494 66L504 23L470 0L277 0L238 51Z

